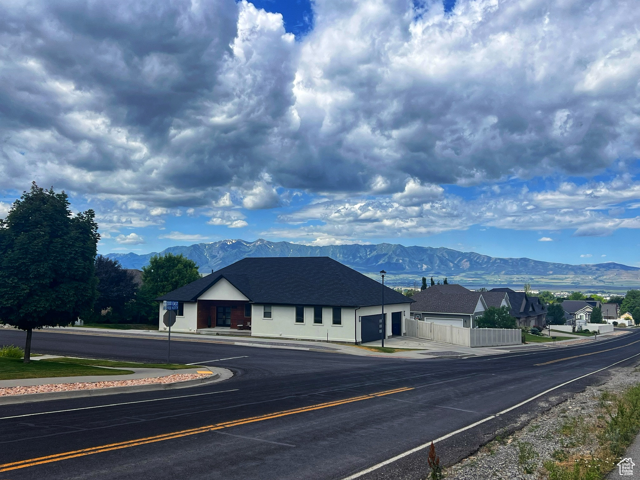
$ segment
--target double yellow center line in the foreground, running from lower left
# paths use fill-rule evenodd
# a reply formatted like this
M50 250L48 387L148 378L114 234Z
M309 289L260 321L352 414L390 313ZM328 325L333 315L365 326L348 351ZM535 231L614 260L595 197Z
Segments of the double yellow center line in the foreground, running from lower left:
M319 403L316 405L304 406L300 408L293 408L291 410L282 410L282 412L267 413L266 415L259 415L257 417L248 417L246 419L232 420L230 422L222 422L222 423L217 423L213 425L207 425L204 427L174 431L172 433L164 433L163 435L154 435L154 436L147 436L145 438L137 438L136 440L127 440L126 442L118 442L116 444L100 445L99 447L74 450L70 452L63 452L63 453L58 453L58 454L48 455L48 456L38 457L38 458L30 458L29 460L13 461L11 463L4 463L3 465L0 465L0 472L8 472L9 470L17 470L18 468L33 467L35 465L42 465L43 463L51 463L53 461L68 460L70 458L76 458L76 457L81 457L85 455L92 455L94 453L125 449L129 447L135 447L136 445L145 445L145 444L152 444L154 442L163 442L164 440L171 440L172 438L180 438L181 436L196 435L196 433L204 433L207 431L221 430L223 428L235 427L238 425L244 425L244 424L253 423L253 422L261 422L262 420L276 419L278 417L294 415L294 413L303 413L303 412L311 412L312 410L321 410L322 408L328 408L330 406L338 406L345 403L353 403L360 400L367 400L375 397L383 397L385 395L397 394L399 392L406 392L407 390L413 390L413 388L409 388L409 387L394 388L394 390L384 390L383 392L376 392L374 394L351 397L344 400L335 400L332 402Z

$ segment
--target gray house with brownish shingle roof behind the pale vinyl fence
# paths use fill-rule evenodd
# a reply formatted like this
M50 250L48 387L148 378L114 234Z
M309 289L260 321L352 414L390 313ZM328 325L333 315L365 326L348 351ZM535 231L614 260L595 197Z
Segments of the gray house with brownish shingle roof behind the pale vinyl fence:
M489 295L490 305L483 296L486 292L474 292L462 285L431 285L412 296L411 316L419 321L442 325L474 328L474 320L484 314L488 307L509 306L505 294Z

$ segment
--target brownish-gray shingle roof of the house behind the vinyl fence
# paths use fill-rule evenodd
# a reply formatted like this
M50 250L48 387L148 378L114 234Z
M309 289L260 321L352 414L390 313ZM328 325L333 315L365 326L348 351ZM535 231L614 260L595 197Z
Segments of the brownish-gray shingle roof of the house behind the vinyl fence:
M411 311L472 315L480 296L480 292L472 292L461 285L432 285L412 296L415 303Z

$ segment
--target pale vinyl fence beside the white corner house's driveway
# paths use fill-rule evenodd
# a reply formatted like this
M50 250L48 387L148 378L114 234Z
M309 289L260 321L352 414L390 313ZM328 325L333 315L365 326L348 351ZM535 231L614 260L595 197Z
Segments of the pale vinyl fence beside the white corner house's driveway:
M449 343L465 347L497 347L522 343L520 329L507 328L464 328L441 325L434 322L406 319L406 335L434 342ZM415 335L413 335L415 333Z

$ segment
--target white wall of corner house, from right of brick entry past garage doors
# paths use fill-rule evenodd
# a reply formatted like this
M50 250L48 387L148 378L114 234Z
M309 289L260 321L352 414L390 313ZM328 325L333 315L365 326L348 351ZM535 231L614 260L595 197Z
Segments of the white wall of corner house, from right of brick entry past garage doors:
M404 318L409 314L409 304L385 305L387 314L387 335L391 336L392 312L404 312ZM251 335L257 337L278 337L284 339L328 340L330 342L354 342L357 333L358 342L362 340L360 334L360 317L381 313L381 307L342 307L342 324L333 324L333 308L323 307L323 323L314 324L314 307L305 306L305 322L296 323L296 307L294 305L272 305L271 319L264 318L264 305L252 306ZM173 330L173 329L172 329ZM356 332L357 330L357 332Z

